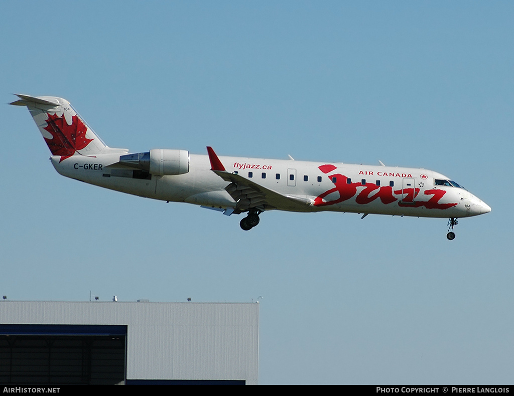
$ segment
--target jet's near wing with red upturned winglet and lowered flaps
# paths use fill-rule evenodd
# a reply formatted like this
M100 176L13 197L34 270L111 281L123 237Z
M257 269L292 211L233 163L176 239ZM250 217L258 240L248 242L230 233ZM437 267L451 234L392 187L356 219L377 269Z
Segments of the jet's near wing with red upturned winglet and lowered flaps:
M313 205L313 201L309 199L283 195L241 175L229 173L212 147L207 147L207 152L211 161L211 171L230 183L225 187L225 190L237 202L236 211L246 212L250 209L256 209L264 212L265 210L280 209L306 212L308 206Z

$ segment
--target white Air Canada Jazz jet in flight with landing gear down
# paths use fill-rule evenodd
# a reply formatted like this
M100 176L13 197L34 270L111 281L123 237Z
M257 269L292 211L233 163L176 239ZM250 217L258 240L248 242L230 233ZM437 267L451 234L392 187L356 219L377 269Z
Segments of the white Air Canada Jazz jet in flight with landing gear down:
M225 215L246 213L249 231L260 214L350 212L457 219L491 211L450 178L428 169L207 155L183 149L129 153L108 147L66 99L15 94L27 106L63 176L127 194L187 202Z

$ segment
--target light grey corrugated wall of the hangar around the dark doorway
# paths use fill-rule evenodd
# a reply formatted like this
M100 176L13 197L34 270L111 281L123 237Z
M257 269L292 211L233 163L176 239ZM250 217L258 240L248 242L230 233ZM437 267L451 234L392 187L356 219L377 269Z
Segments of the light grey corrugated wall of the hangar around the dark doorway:
M259 304L4 300L0 323L126 325L127 380L257 383Z

